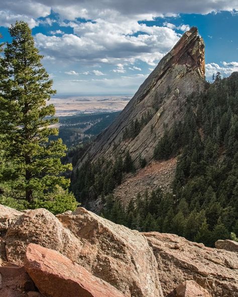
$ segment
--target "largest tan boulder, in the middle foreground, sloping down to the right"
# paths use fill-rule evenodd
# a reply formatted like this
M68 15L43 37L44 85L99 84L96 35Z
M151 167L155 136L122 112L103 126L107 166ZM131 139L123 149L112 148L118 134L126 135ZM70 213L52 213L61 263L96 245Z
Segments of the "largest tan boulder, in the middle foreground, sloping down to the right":
M155 256L146 238L80 207L57 215L83 243L78 263L127 296L163 296Z

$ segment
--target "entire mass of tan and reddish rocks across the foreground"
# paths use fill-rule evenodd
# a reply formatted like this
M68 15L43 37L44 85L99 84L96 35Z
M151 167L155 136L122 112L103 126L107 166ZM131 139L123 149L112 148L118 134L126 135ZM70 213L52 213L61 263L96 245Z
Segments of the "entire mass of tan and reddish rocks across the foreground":
M8 211L10 222L3 236L9 263L0 264L1 297L61 297L64 286L83 287L91 297L238 297L237 252L174 234L139 233L84 208L57 217L45 209L17 216L0 210L0 220ZM66 292L64 297L74 295Z

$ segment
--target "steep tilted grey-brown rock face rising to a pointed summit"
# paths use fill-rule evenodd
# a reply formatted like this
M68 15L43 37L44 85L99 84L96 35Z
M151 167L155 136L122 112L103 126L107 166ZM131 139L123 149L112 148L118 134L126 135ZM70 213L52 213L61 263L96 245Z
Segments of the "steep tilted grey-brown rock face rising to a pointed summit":
M164 127L169 131L175 122L183 120L185 111L181 107L188 95L203 89L204 72L204 43L193 27L159 62L115 121L98 135L74 170L88 159L92 162L102 156L111 159L115 150L122 157L129 151L136 168L140 156L149 163ZM131 120L140 121L148 111L152 118L140 133L134 139L123 140Z

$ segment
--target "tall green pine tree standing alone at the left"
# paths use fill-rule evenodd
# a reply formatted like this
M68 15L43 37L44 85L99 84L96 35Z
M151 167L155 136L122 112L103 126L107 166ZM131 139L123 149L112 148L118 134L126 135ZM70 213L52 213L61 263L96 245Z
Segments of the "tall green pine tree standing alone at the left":
M68 199L70 181L60 175L71 168L60 161L66 146L61 139L49 141L50 135L58 134L58 129L49 127L57 122L52 117L55 108L46 105L55 94L53 81L41 64L43 56L28 24L17 22L9 32L12 42L7 43L0 61L0 122L6 160L3 195L26 200L32 207L45 199L53 201L57 195ZM70 199L73 209L76 202L72 195Z

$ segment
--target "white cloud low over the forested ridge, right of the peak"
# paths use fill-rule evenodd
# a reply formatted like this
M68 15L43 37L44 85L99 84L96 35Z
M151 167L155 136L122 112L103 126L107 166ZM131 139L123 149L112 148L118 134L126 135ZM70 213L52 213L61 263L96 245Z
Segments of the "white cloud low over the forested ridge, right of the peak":
M238 71L238 62L222 62L222 65L216 63L206 64L206 77L211 79L213 73L220 72L223 76L229 76L232 72Z

